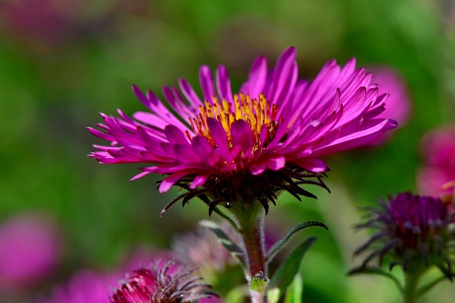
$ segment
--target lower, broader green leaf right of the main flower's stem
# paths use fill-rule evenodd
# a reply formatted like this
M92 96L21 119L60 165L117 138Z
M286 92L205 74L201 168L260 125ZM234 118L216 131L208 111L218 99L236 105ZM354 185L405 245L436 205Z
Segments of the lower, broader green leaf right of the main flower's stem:
M309 250L311 245L316 241L316 237L310 237L302 241L294 251L292 251L289 258L282 263L274 275L270 279L269 283L269 293L277 297L282 297L282 295L287 291L287 288L294 281L294 277L299 272L301 260L304 258L305 253Z

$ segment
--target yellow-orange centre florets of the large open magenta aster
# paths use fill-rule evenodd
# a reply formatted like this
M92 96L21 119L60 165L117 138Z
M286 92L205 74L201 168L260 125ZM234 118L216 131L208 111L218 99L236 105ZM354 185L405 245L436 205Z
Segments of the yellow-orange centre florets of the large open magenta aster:
M190 118L190 125L193 128L194 133L198 133L207 139L208 143L212 145L212 148L217 148L213 136L210 133L210 129L207 126L207 119L217 119L228 137L229 149L232 149L232 134L230 131L231 125L234 121L244 120L250 125L253 137L253 148L252 152L259 149L262 145L264 148L267 143L272 141L277 131L277 116L278 107L276 104L271 104L264 94L259 94L258 99L251 99L248 94L235 94L234 104L228 102L226 99L220 101L217 97L213 97L213 104L210 104L208 100L205 100L204 105L199 106L200 114L194 118ZM267 126L267 138L262 144L260 133L263 126ZM186 136L190 138L189 132Z

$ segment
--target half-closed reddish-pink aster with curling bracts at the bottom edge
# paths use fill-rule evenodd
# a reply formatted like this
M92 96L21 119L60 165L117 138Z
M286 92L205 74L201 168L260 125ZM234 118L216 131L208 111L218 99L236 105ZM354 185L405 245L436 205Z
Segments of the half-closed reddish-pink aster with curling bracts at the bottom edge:
M175 262L161 261L151 269L134 270L111 296L112 303L198 302L216 297L210 287L194 277L192 270Z

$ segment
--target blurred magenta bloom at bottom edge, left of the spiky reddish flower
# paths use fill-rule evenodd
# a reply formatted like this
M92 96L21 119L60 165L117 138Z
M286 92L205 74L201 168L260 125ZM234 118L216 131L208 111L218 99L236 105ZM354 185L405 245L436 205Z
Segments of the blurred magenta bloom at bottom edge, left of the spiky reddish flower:
M67 285L56 287L50 299L39 303L109 303L109 290L119 275L80 270Z

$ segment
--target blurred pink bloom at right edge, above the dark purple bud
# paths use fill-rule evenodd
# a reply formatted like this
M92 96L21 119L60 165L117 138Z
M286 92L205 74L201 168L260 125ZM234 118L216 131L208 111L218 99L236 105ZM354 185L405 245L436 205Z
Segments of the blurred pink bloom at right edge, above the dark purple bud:
M419 170L417 183L424 194L448 194L443 189L447 182L455 180L455 127L440 128L427 133L422 139L424 164Z

